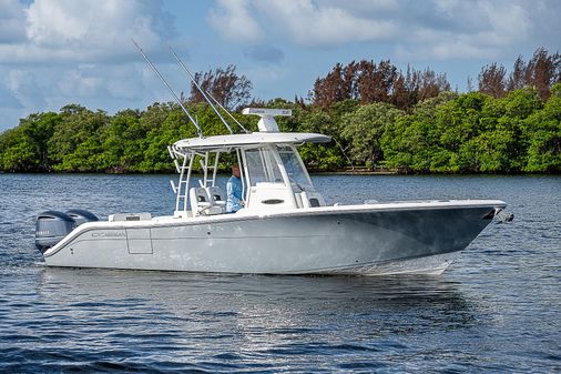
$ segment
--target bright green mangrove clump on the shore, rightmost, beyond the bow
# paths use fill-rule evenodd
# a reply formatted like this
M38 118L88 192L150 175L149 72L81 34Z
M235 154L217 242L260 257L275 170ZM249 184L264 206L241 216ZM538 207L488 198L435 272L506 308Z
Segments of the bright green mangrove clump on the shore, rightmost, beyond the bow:
M561 103L519 89L501 99L470 92L417 104L387 127L385 164L414 172L559 172Z

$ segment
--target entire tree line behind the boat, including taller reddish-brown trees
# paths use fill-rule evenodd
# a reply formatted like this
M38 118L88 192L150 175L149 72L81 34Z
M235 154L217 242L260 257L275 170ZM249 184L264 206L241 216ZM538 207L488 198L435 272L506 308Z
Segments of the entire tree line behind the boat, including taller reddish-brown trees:
M559 53L538 49L512 72L489 64L479 90L450 91L446 74L430 69L399 71L389 60L336 64L318 78L307 100L251 100L252 83L234 65L195 74L225 108L292 109L282 131L319 132L328 144L300 148L307 166L350 166L415 173L511 173L561 171L561 67ZM205 135L225 128L193 84L182 101ZM233 114L257 131L257 120ZM113 115L70 104L33 113L0 134L0 170L6 172L173 172L166 146L196 137L173 102ZM222 170L228 168L225 159Z

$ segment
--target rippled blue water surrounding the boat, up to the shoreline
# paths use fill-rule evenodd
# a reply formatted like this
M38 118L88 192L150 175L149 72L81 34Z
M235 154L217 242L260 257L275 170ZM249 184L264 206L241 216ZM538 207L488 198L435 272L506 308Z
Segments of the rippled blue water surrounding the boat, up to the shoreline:
M167 176L0 174L1 372L560 372L561 178L316 176L328 203L502 199L441 276L47 269L47 209L169 214Z

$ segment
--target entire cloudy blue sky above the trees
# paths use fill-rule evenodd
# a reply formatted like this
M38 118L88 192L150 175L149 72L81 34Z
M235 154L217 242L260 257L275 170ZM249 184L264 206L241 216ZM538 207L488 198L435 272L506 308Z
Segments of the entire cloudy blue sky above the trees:
M235 64L262 100L306 97L338 62L429 67L452 89L561 44L559 0L0 0L0 132L70 103L113 114L172 97L192 71Z

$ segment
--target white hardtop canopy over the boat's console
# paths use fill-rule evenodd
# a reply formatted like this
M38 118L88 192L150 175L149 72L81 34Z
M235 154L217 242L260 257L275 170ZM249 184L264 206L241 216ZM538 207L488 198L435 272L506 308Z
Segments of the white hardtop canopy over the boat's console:
M176 141L173 148L184 151L230 151L235 148L254 148L264 144L327 143L330 137L308 132L252 132L245 134L190 138Z

